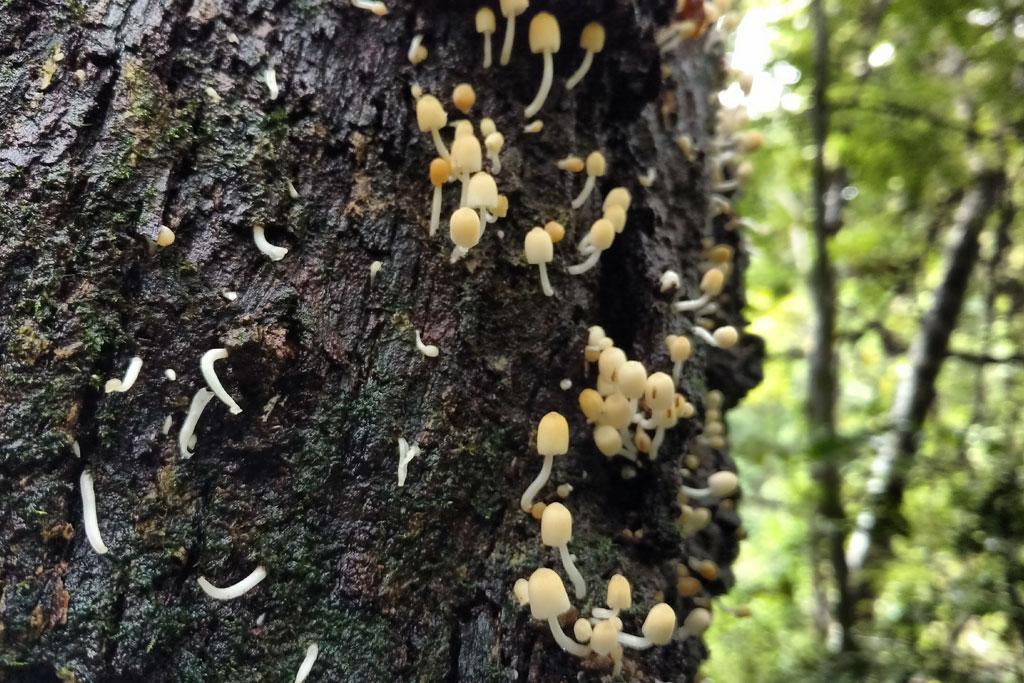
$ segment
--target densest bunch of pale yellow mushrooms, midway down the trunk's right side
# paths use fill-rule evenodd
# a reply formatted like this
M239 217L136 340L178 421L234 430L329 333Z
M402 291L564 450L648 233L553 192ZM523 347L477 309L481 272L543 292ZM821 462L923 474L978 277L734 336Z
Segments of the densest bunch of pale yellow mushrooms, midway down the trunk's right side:
M590 328L584 357L598 371L596 388L580 393L580 409L594 425L598 451L633 462L639 454L656 459L667 430L693 417L693 405L676 391L671 375L648 376L643 364L630 360L598 326Z

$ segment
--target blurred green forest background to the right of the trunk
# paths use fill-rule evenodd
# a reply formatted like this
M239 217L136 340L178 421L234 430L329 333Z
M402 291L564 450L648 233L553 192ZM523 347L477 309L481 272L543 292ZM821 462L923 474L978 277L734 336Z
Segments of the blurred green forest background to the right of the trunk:
M1024 680L1024 0L742 9L769 356L705 672Z

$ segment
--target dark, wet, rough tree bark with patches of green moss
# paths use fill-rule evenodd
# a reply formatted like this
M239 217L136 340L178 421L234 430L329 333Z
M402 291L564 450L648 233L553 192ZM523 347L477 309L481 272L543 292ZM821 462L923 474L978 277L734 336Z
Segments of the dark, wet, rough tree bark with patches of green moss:
M694 539L675 526L678 456L695 449L699 419L624 480L575 408L593 383L587 326L604 326L648 368L669 367L664 336L685 318L670 313L657 276L674 268L692 293L702 241L739 246L726 217L706 225L702 154L687 161L674 144L682 133L707 143L722 75L703 40L659 59L653 32L674 2L540 3L562 26L540 135L521 132L541 73L525 41L535 8L519 20L512 65L484 72L475 2L394 2L386 17L317 0L4 4L3 676L289 680L311 641L321 680L606 675L607 661L561 652L511 597L517 578L555 561L517 509L540 467L531 432L552 410L569 417L572 446L542 500L557 482L573 486L572 551L591 591L577 607L602 600L602 581L622 571L639 603L627 628L639 629L659 592L685 615L694 602L677 595L675 571L690 558L722 567L702 595L726 590L736 512L714 509ZM593 18L607 27L607 49L566 93ZM430 55L414 68L406 51L418 32ZM433 147L416 129L410 86L447 99L461 80L477 88L474 115L505 133L499 183L511 209L451 266L446 237L426 234ZM610 160L601 196L625 184L634 202L599 267L570 278L571 245L600 200L571 212L581 178L554 161L593 148ZM648 167L657 180L644 189L636 177ZM547 299L521 249L524 230L550 219L568 234ZM158 251L161 224L177 240ZM289 248L284 260L255 249L256 224ZM719 323L741 322L737 259ZM414 329L439 357L417 351ZM210 403L196 456L182 461L176 434L203 386L199 357L218 346L230 351L218 373L244 412ZM683 390L698 409L709 389L732 405L759 380L758 340L696 346ZM136 354L136 386L104 394ZM399 436L423 449L403 488ZM689 483L733 467L726 453L696 452ZM105 556L83 531L84 467ZM241 599L214 602L197 587L200 574L225 585L257 564L269 575ZM691 680L706 655L690 639L629 656L626 673Z

